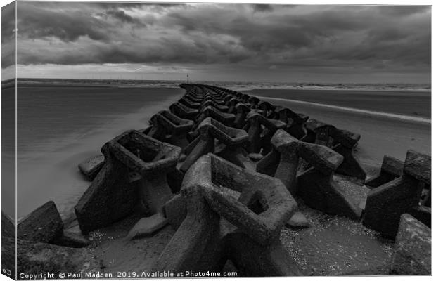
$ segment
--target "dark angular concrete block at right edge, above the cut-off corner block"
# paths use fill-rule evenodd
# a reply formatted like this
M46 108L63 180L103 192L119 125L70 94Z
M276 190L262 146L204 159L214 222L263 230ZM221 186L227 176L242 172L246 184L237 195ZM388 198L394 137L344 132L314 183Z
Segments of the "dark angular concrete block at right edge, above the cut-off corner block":
M418 206L423 185L430 182L431 157L409 150L402 176L368 193L364 226L395 237L399 217Z

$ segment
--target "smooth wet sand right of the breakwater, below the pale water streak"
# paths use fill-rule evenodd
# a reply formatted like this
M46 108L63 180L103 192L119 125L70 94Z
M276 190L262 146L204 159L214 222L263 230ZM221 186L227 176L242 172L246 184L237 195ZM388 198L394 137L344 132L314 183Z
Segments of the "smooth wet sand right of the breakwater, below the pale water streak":
M356 155L362 164L368 166L379 167L384 155L404 161L409 149L431 154L431 124L427 122L301 104L292 100L264 99L274 105L286 106L295 112L333 124L338 129L359 133L361 139Z

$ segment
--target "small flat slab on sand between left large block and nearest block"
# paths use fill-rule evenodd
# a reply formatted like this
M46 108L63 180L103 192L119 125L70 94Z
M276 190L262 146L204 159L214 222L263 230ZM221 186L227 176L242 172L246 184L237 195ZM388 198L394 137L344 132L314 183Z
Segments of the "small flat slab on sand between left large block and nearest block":
M141 218L127 234L127 239L132 240L141 237L149 237L156 231L168 224L167 219L161 213Z

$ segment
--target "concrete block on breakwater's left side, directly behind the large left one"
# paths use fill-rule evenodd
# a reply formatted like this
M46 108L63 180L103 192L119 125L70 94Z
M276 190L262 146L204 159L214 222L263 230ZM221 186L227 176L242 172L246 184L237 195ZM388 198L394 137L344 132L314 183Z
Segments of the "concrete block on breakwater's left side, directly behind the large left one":
M182 119L167 110L162 110L151 117L150 123L153 124L153 128L148 136L179 146L182 149L189 144L186 135L193 127L192 120Z

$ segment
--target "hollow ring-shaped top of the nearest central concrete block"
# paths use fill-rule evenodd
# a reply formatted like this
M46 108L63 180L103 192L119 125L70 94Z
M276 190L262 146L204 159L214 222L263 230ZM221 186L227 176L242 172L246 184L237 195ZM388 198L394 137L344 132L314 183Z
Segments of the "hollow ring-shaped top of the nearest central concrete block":
M182 190L200 185L212 209L259 244L269 244L297 209L297 203L276 178L242 169L209 154L185 175ZM219 186L241 192L236 200Z

